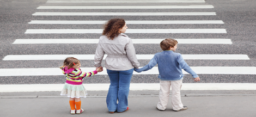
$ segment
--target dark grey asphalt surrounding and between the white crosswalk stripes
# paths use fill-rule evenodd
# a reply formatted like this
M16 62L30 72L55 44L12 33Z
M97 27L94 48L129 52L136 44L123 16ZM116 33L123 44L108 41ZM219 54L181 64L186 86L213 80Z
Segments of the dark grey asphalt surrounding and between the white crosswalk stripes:
M46 3L45 0L0 0L0 67L59 67L63 60L2 60L21 54L94 54L97 44L12 44L16 39L98 39L101 34L25 34L27 29L101 29L101 24L28 24L31 20L222 20L224 24L129 24L130 29L222 28L225 34L127 34L131 39L231 39L232 44L179 44L181 54L247 54L250 60L186 60L190 66L255 66L256 1L206 1L182 5L214 5L214 9L36 9L40 5L180 5L179 3ZM215 16L32 16L35 12L216 12ZM159 44L134 44L136 54L161 52ZM149 60L139 60L141 66ZM94 67L93 60L81 60L82 67ZM104 65L104 62L102 64ZM200 83L256 83L255 75L199 75ZM184 83L193 83L186 75ZM0 84L62 84L64 76L1 76ZM157 75L133 75L132 83L159 83ZM106 75L84 83L109 83Z

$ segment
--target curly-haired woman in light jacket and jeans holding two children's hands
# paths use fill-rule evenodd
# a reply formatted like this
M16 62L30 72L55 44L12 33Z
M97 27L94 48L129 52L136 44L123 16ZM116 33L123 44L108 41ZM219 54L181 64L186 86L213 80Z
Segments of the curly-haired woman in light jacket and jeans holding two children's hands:
M107 54L105 65L111 83L106 100L109 113L129 110L130 81L134 67L139 67L132 40L123 34L127 28L124 19L109 20L95 52L96 69L101 67L103 56Z

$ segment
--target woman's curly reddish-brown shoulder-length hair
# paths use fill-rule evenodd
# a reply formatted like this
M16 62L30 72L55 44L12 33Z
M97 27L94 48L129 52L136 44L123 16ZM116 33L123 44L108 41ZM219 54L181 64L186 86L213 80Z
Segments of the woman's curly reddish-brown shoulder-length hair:
M123 28L124 26L124 19L111 19L104 25L102 35L105 35L108 39L113 40L120 34L119 29Z

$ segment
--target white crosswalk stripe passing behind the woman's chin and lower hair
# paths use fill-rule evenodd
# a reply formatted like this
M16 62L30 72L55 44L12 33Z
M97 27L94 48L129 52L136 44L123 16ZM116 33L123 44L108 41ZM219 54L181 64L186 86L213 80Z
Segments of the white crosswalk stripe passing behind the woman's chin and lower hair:
M25 34L102 33L103 29L27 29ZM227 33L225 29L127 29L126 33Z

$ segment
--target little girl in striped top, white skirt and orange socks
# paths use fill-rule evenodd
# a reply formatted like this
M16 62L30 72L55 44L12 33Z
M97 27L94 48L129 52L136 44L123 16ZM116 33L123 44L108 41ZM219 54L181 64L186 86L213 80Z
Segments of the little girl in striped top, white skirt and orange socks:
M80 67L80 61L74 57L66 58L64 65L60 67L62 73L66 75L66 83L60 95L68 95L68 97L70 97L70 114L81 114L84 112L84 110L81 109L80 100L80 97L86 97L87 95L87 91L82 84L83 78L93 76L102 70L102 67L99 67L97 70L87 73L81 71Z

